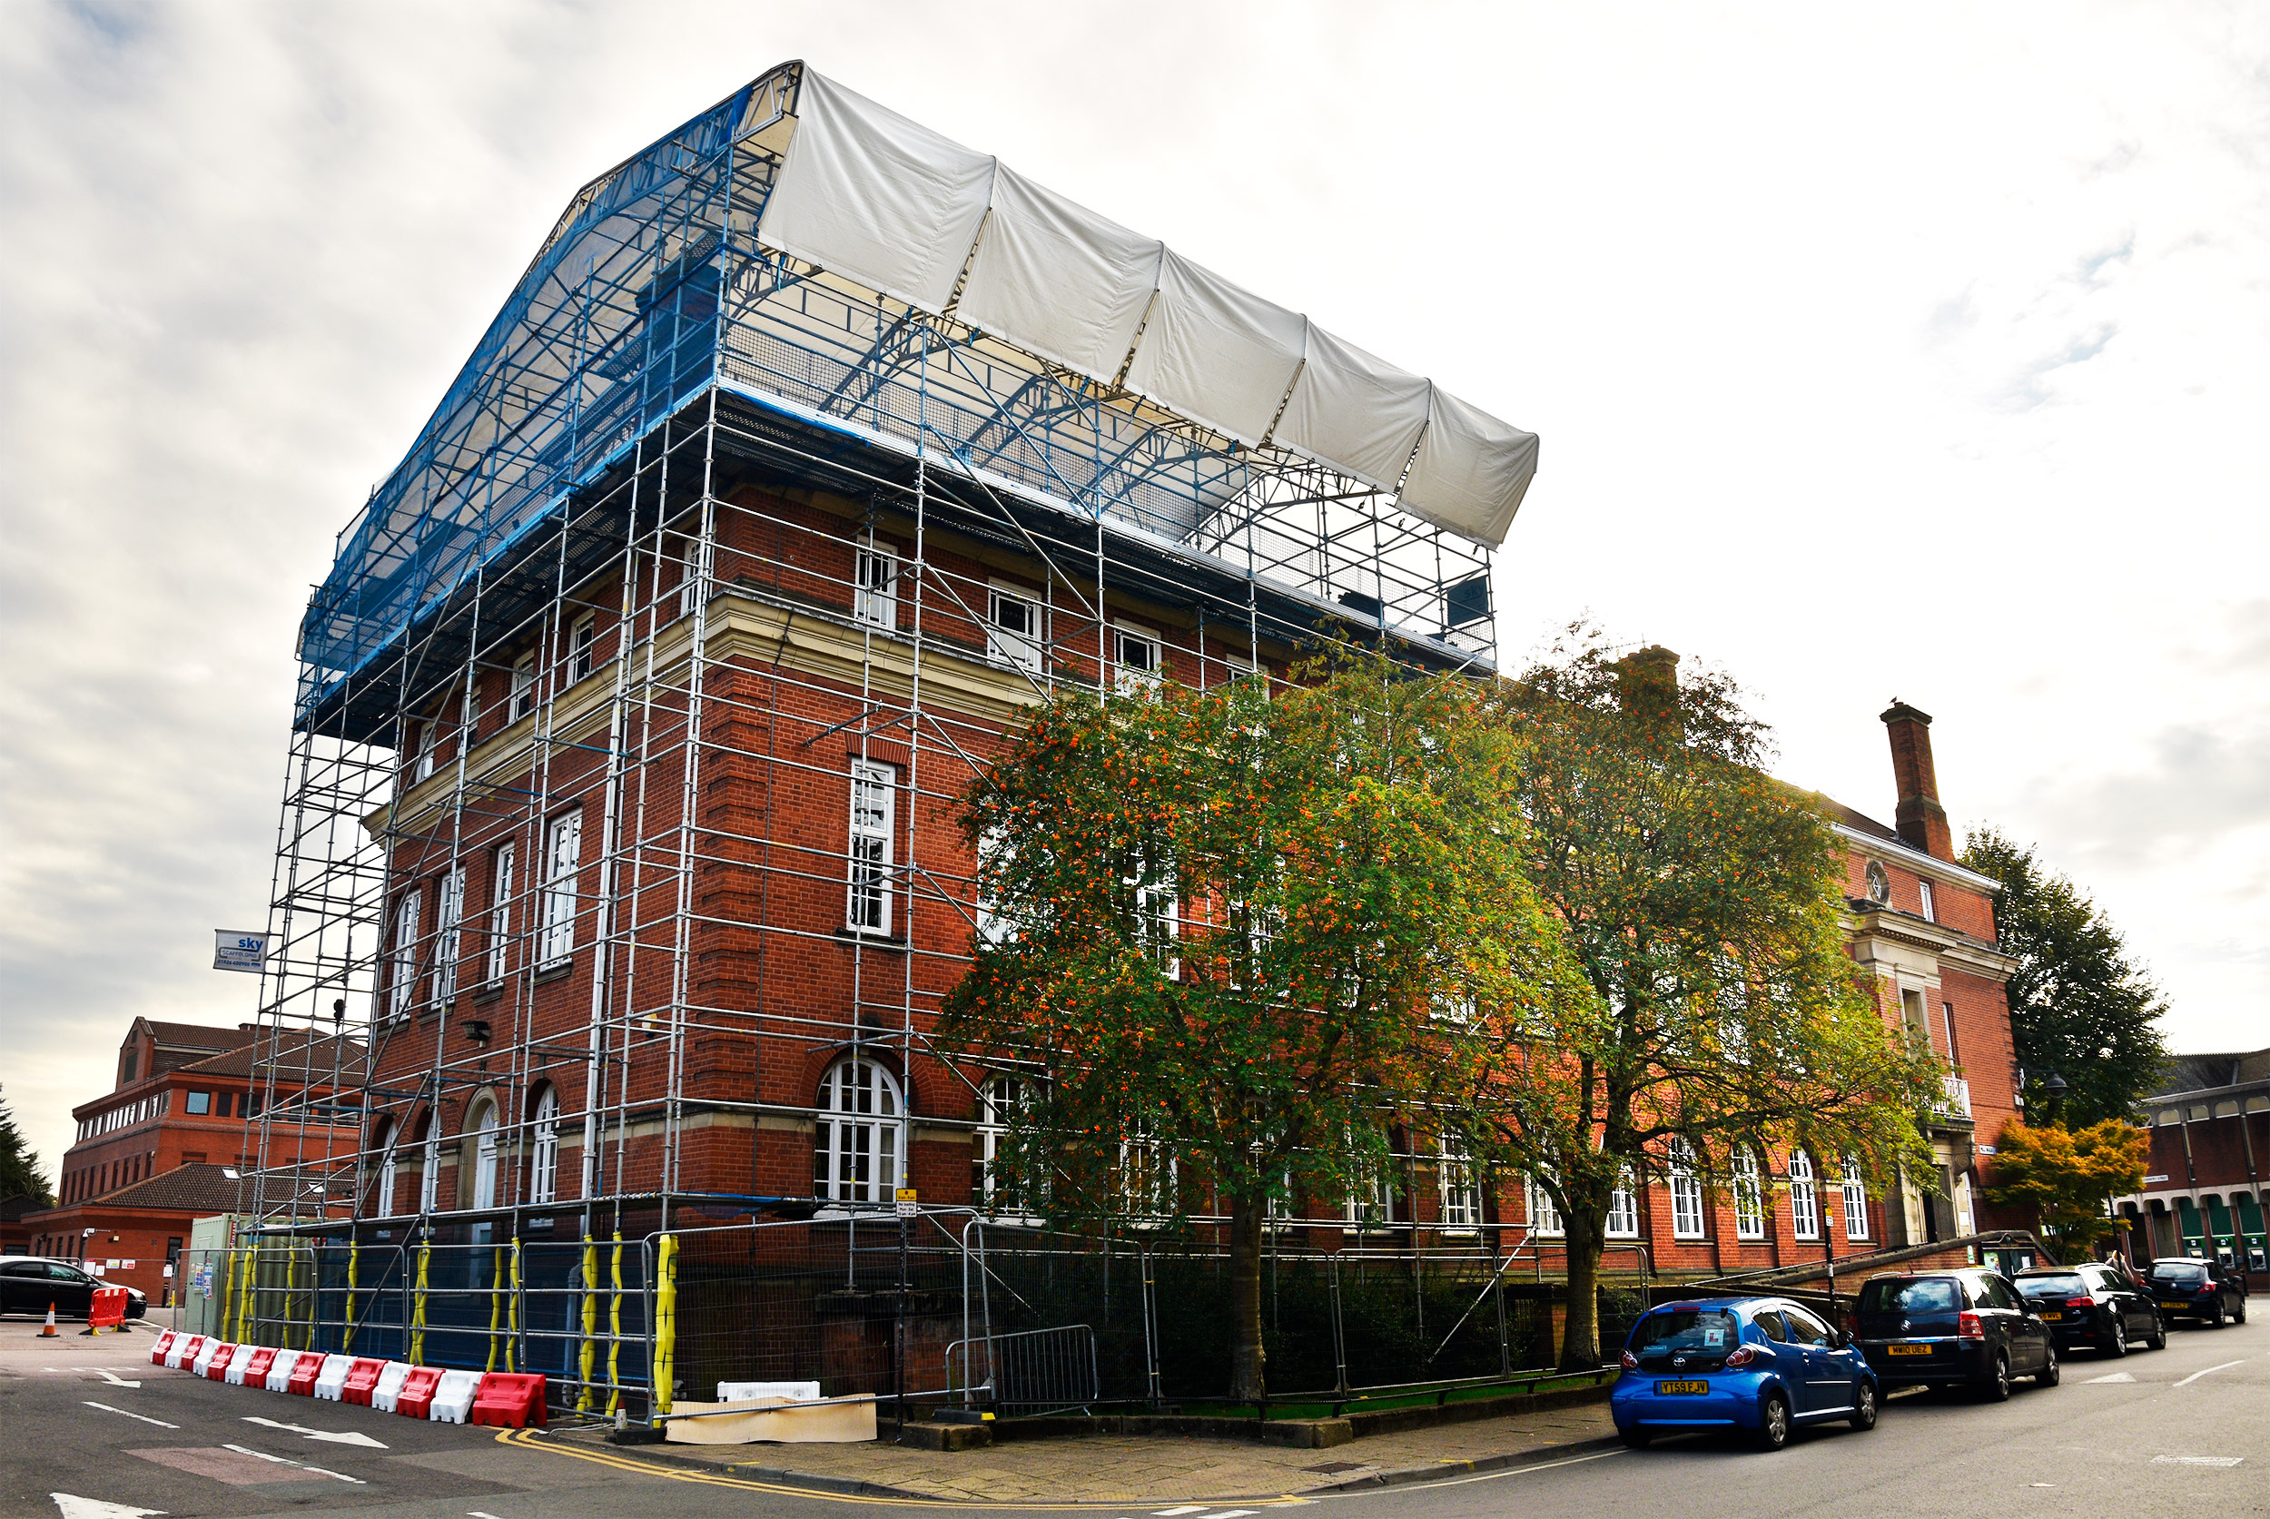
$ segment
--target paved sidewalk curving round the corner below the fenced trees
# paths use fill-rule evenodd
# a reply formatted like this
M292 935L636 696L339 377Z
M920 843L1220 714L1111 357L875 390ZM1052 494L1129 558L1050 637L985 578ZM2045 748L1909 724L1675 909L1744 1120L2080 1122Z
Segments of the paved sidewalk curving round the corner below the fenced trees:
M1278 1499L1376 1474L1473 1462L1516 1465L1525 1453L1612 1437L1607 1403L1553 1408L1510 1419L1446 1424L1403 1435L1371 1435L1323 1451L1199 1435L1067 1435L1012 1440L976 1451L917 1451L872 1444L617 1446L617 1455L699 1465L735 1476L842 1489L869 1483L901 1494L962 1503L1142 1503L1199 1499ZM561 1440L599 1440L561 1430Z

